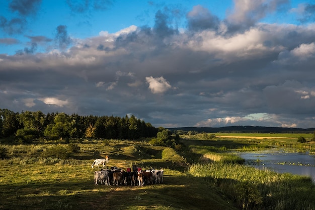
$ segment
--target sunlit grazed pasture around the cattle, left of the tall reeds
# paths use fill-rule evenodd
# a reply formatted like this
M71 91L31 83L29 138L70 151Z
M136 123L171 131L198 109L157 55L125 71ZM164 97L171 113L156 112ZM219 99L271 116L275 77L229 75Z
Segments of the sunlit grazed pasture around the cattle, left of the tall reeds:
M106 141L76 143L81 150L65 159L46 156L46 151L66 144L7 145L9 157L0 160L0 209L234 209L201 178L184 172L186 160L174 149ZM110 156L106 167L163 168L164 182L143 187L95 185L94 171L102 167L91 164L105 155Z

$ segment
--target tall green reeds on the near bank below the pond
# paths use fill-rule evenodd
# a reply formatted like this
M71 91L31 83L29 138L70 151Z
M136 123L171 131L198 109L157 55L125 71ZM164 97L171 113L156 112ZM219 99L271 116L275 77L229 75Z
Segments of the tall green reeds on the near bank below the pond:
M188 172L242 209L315 209L315 188L309 177L221 161L193 164Z

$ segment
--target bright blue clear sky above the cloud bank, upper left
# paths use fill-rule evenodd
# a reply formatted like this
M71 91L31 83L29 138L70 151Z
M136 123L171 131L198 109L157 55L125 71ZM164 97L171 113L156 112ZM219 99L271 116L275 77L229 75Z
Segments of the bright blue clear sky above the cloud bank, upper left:
M19 2L29 6L27 12L21 12L12 9L12 3ZM21 3L22 2L22 3ZM95 6L99 3L102 8ZM228 3L228 7L226 7ZM224 18L226 9L231 7L232 1L200 1L198 4L204 5L213 14L219 18ZM155 13L158 10L165 10L170 15L170 24L174 27L185 28L187 23L185 15L195 6L193 1L75 1L75 0L57 0L57 1L3 1L0 4L2 17L7 22L15 19L21 19L25 22L16 27L12 24L12 30L1 31L2 38L16 39L15 45L6 44L0 49L0 53L15 54L16 51L23 49L30 42L29 37L45 36L53 39L56 34L56 27L66 26L69 36L73 38L89 38L98 36L101 31L115 33L121 29L128 28L131 25L137 27L154 26ZM22 10L22 9L21 9ZM25 14L26 13L26 14ZM173 14L172 14L173 13ZM9 27L7 27L9 28ZM20 29L23 28L23 29ZM17 32L23 30L23 32ZM11 30L10 30L11 31ZM20 47L20 48L19 48Z

